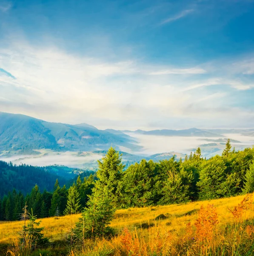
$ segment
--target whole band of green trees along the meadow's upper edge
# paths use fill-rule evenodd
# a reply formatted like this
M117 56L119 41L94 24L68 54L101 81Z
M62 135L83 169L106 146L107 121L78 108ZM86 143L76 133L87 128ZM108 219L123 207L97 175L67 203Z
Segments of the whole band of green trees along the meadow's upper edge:
M95 211L95 205L99 212L102 209L109 212L109 205L119 209L181 204L250 192L254 192L254 148L235 151L230 140L222 156L204 159L197 148L185 159L141 160L127 169L119 152L111 147L102 161L98 161L97 173L83 180L78 177L69 189L60 187L57 180L53 192L41 193L37 185L26 196L16 190L9 192L0 202L0 220L19 219L25 203L38 218L86 209L84 222L88 209Z

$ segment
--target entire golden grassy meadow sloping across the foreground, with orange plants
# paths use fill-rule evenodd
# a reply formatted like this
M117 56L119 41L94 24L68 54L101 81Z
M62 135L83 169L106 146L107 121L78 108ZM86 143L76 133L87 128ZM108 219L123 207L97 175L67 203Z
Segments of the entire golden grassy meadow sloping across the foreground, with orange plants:
M253 194L169 206L117 210L111 239L71 246L71 227L80 215L41 219L51 244L32 254L17 247L22 221L0 223L0 255L180 256L254 255ZM201 208L201 210L200 210ZM160 216L160 218L156 218ZM7 253L7 250L9 252Z

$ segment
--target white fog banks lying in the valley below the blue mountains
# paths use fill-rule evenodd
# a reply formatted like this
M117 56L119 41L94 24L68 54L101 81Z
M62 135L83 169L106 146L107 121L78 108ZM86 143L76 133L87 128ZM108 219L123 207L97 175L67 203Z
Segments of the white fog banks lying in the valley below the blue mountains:
M128 134L137 139L138 145L143 147L140 151L130 151L122 147L121 150L132 154L151 155L165 152L178 152L189 154L193 148L197 148L202 144L209 143L205 137L169 137L169 136L155 136L143 134ZM241 134L223 134L226 138L239 140L240 143L231 143L236 149L243 149L247 146L254 145L254 137L243 136ZM211 140L217 140L211 138ZM223 147L223 145L221 146ZM84 152L82 155L77 152L54 152L50 150L38 150L38 155L13 155L11 157L0 156L0 160L11 161L14 164L26 163L33 166L49 166L49 165L63 165L73 168L88 168L91 164L97 165L96 161L102 158L102 154L94 154L91 152ZM217 152L220 154L220 151ZM216 153L216 154L217 154Z

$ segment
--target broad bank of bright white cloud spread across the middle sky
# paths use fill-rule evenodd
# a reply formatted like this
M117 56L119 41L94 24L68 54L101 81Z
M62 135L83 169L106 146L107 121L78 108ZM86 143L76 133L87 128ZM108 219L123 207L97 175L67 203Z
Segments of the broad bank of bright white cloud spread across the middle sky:
M99 128L148 129L150 123L170 128L172 120L181 126L179 120L185 119L186 124L189 118L211 117L209 122L214 122L216 115L230 112L225 99L225 88L230 88L224 86L214 93L209 86L252 87L241 80L213 77L203 65L108 62L27 43L0 47L0 67L16 78L0 75L0 111L53 122L88 122Z

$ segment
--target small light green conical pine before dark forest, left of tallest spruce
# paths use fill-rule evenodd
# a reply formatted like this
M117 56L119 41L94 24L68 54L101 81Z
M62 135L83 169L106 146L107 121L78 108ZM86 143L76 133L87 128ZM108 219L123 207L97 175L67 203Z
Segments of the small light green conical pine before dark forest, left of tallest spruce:
M64 214L76 214L80 211L80 195L79 192L77 191L77 187L75 184L73 184L69 189L68 189L68 200L67 200L67 205L66 209L64 210Z

